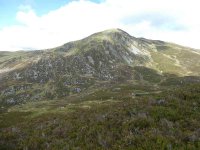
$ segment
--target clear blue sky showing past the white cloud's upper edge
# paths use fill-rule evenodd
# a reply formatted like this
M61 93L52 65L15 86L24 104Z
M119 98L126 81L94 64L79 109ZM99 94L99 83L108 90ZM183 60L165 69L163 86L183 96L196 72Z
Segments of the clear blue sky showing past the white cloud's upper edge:
M103 0L91 1L100 3ZM20 6L31 6L38 16L42 16L43 14L56 10L69 2L71 2L71 0L0 0L0 28L17 24L15 17Z

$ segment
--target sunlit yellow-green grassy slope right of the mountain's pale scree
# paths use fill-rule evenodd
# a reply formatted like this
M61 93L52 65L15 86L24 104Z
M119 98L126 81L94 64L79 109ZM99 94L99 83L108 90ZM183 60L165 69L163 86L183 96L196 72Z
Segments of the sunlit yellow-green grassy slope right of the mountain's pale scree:
M150 51L153 66L162 72L180 76L200 75L200 53L179 45L162 43Z

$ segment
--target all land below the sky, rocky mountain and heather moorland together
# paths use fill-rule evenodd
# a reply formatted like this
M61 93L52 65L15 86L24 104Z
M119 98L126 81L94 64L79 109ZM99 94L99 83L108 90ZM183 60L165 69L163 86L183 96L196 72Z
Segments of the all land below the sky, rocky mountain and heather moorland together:
M200 50L110 29L0 52L0 149L200 149Z

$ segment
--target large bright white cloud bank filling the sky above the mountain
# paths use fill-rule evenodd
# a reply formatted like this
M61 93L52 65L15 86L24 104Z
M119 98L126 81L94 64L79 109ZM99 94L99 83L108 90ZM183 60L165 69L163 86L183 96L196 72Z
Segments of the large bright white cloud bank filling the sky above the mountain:
M0 50L51 48L109 28L200 48L198 14L198 0L80 0L43 16L20 6L19 25L0 30Z

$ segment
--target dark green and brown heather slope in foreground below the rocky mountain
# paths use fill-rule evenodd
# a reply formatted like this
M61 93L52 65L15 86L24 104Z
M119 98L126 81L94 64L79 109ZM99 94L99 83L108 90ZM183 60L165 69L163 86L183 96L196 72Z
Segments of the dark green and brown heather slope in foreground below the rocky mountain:
M120 85L12 107L0 115L0 149L199 149L200 85L149 90Z

